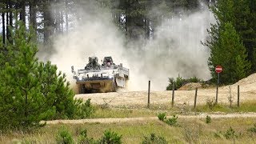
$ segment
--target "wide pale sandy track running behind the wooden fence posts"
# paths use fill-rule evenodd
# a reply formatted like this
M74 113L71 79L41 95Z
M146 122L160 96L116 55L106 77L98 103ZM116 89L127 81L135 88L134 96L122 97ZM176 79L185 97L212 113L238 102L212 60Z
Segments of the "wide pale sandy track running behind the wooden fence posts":
M238 100L238 85L240 86L240 102L256 100L256 74L250 75L241 81L230 86L222 86L218 89L218 102L228 103L228 97L233 97L233 102ZM171 102L172 91L151 91L150 104L167 104ZM195 90L175 90L174 103L194 105ZM82 98L84 100L91 98L91 102L95 104L108 103L110 106L146 106L147 105L147 91L127 91L115 93L101 93L101 94L77 94L75 98ZM216 97L216 88L198 89L198 104L206 104L207 99Z

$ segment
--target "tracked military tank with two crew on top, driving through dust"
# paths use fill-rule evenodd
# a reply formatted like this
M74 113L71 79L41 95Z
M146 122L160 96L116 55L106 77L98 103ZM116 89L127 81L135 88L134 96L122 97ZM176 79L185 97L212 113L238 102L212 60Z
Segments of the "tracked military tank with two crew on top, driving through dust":
M129 79L129 69L115 65L111 57L103 58L102 65L97 57L89 57L84 69L74 71L73 78L78 85L79 94L114 92L118 87L126 87Z

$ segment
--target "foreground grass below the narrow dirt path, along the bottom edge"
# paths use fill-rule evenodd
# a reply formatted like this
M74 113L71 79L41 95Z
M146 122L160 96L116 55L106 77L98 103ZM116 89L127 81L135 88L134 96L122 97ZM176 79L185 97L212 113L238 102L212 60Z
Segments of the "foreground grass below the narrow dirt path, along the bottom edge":
M56 124L46 125L30 134L14 132L2 135L0 143L55 143L56 134L62 126L67 127L75 142L78 141L79 132L86 129L89 138L100 138L105 130L112 130L122 134L123 143L141 143L144 136L152 133L166 138L169 143L255 143L256 133L249 131L255 122L254 118L213 118L206 124L205 118L178 118L178 126L169 126L158 120L112 124ZM230 127L232 133L229 131ZM234 137L227 138L226 134Z

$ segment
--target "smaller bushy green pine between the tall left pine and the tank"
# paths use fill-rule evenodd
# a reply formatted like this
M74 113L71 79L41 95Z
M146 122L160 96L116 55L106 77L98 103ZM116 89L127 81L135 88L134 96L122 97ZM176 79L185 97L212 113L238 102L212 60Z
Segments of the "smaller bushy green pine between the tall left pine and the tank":
M42 83L42 94L51 99L47 104L56 110L52 119L74 118L74 93L69 88L70 83L66 82L66 74L57 74L57 66L50 62L40 62L37 78Z

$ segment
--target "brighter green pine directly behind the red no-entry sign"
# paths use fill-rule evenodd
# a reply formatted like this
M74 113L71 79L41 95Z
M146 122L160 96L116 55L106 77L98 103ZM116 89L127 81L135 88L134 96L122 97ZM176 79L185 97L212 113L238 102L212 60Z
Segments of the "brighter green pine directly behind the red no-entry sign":
M218 28L218 38L209 44L211 53L208 64L214 79L217 78L214 71L217 65L223 67L222 83L234 83L246 77L250 71L250 62L246 60L246 48L231 22L222 24Z

